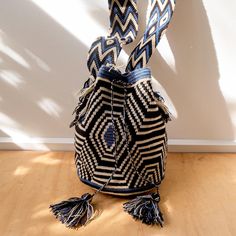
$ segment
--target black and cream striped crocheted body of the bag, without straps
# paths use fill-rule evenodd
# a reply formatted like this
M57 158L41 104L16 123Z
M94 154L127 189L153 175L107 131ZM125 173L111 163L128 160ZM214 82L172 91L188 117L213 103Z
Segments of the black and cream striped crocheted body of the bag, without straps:
M141 191L147 188L150 184L136 173L133 165L143 177L157 184L164 178L167 156L166 121L152 89L151 78L144 73L145 70L147 69L141 69L139 74L134 71L133 76L128 78L133 82L127 87L125 119L132 159L127 158L122 125L124 88L118 83L114 84L113 110L117 131L118 167L103 191L112 189L112 192L128 193L132 189ZM114 170L115 137L111 132L111 79L127 79L116 76L114 71L105 72L98 75L93 93L87 101L87 112L75 125L75 163L78 175L91 186L106 183Z

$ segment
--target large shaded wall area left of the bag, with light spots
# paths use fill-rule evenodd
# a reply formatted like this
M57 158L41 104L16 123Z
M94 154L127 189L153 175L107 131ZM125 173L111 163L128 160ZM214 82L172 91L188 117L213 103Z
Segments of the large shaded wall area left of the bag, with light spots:
M87 47L30 1L0 13L0 137L72 137Z

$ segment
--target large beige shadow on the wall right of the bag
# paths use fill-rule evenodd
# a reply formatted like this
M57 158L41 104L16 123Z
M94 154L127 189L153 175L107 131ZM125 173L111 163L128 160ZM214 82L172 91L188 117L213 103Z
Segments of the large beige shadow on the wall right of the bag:
M234 139L219 87L219 70L206 9L201 0L177 1L166 33L176 72L159 53L150 66L174 102L178 119L169 123L173 139Z

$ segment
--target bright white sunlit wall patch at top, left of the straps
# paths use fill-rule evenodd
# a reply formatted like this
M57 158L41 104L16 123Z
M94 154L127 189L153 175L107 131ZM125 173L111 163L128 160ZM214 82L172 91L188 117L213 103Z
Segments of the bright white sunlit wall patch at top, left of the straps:
M107 30L89 13L87 1L31 1L87 47L90 47L98 36L107 35Z

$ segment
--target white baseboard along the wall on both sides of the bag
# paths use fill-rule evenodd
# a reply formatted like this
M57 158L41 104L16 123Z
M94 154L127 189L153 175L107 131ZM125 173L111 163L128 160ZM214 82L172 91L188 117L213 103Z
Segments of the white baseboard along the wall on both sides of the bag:
M74 151L73 138L0 137L0 150ZM169 152L236 152L236 140L169 139Z

